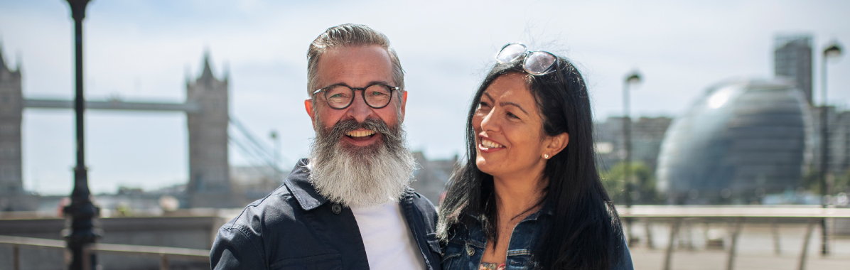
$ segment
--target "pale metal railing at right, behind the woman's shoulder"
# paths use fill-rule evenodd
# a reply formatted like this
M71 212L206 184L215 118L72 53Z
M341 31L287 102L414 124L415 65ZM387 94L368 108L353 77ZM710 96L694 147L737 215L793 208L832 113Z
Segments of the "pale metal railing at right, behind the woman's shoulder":
M808 245L812 238L812 232L816 224L819 224L825 218L842 218L850 217L850 209L846 208L804 208L804 207L758 207L758 206L733 206L733 207L688 207L688 206L638 206L638 207L618 207L621 219L626 223L631 222L635 218L641 218L647 222L647 237L649 234L649 222L653 220L667 220L671 224L670 238L667 239L667 247L664 256L663 270L671 269L671 262L674 250L674 243L682 227L684 219L723 219L734 224L731 233L731 243L727 254L726 269L734 269L736 250L738 239L743 224L747 219L770 219L778 222L782 219L807 220L808 226L803 238L802 252L798 260L797 268L804 270L806 268L806 260L808 256ZM631 224L626 224L626 230L631 233ZM631 235L629 236L631 238ZM651 239L648 239L651 243ZM774 245L778 244L778 239L774 235ZM651 244L649 244L651 246Z

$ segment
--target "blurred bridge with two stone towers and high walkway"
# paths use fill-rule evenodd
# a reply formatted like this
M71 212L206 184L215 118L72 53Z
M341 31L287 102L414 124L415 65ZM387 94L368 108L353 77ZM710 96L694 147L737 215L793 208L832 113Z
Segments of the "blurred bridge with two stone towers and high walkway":
M186 186L188 207L241 207L229 177L228 76L212 75L208 55L203 71L195 82L186 82L184 103L128 102L122 100L86 101L87 110L175 111L186 114L189 133L189 183ZM11 70L0 52L0 198L5 209L34 210L23 189L21 162L21 122L24 109L73 109L72 100L23 98L20 65ZM238 124L238 122L236 122ZM241 127L241 126L240 126ZM238 131L252 136L244 127ZM253 141L253 140L252 140ZM256 143L256 142L254 142ZM242 144L240 145L242 146ZM274 165L267 162L267 165ZM276 166L273 166L276 169ZM278 170L279 171L279 170ZM28 198L32 199L32 198Z

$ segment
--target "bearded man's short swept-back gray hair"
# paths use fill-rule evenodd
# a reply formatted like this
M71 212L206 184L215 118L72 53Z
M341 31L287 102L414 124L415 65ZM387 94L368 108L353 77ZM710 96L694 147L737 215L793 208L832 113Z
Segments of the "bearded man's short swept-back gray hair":
M310 98L313 98L313 92L320 87L317 65L321 55L329 49L345 46L380 46L387 50L389 60L393 63L394 86L399 87L401 92L405 91L405 70L401 69L399 55L389 47L387 36L366 25L345 24L328 28L316 37L313 43L310 43L310 48L307 50L307 95Z

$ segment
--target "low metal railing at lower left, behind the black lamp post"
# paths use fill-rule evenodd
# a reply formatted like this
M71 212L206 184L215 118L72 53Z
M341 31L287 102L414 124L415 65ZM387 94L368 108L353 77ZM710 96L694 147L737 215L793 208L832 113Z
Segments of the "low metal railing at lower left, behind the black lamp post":
M60 249L65 250L65 241L54 239L37 239L28 237L0 235L0 244L12 245L12 269L20 270L20 247ZM160 269L168 270L169 259L179 259L190 262L209 262L209 250L184 249L150 245L116 245L95 243L83 250L83 268L91 269L88 256L91 252L116 253L132 256L152 256L160 259Z

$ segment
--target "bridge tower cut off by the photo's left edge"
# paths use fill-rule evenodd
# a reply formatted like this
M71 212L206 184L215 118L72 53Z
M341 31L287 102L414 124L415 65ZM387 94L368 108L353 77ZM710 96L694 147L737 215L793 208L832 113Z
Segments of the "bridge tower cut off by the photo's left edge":
M0 211L32 211L37 197L24 191L20 121L24 112L20 64L11 70L0 50Z

